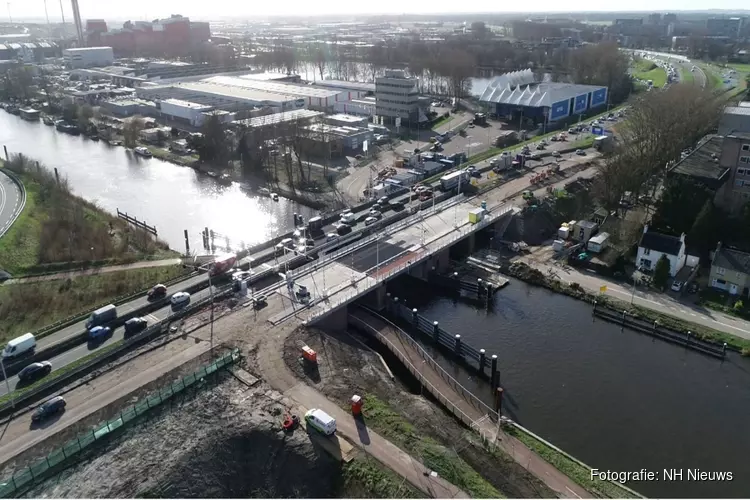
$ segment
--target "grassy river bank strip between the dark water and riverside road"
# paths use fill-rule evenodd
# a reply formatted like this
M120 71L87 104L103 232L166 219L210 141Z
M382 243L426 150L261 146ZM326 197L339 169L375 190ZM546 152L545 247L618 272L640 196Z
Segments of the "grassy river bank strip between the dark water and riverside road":
M568 297L572 297L574 299L592 304L592 307L594 301L596 301L597 307L604 307L619 314L622 314L623 311L625 311L628 316L631 316L633 318L644 319L651 323L658 321L659 325L661 326L676 330L678 332L682 332L684 334L690 332L692 335L702 340L726 343L727 348L741 352L743 356L750 356L750 341L746 339L726 332L715 330L713 328L708 328L703 325L692 323L690 321L680 320L673 316L662 314L645 307L633 305L628 302L615 299L613 297L588 292L578 283L564 283L559 279L544 274L543 272L529 266L526 263L511 263L508 261L503 261L500 264L500 272L507 276L524 281L525 283L546 288L548 290L567 295Z

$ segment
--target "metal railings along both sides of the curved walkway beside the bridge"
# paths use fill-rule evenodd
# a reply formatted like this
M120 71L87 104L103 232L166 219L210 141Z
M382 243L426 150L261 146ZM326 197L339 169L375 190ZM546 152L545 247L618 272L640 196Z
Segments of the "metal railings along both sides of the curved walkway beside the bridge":
M371 313L368 312L368 314ZM400 341L406 342L409 347L412 348L412 351L415 352L423 361L422 369L414 366L412 359L401 349L399 349L396 344L391 342L391 340L386 335L381 333L378 328L369 324L364 319L358 317L356 313L349 314L349 319L353 321L354 326L360 326L365 331L372 333L380 342L382 342L393 354L396 355L396 357L399 358L399 360L404 364L409 372L414 375L417 380L419 380L419 382L430 392L430 394L437 398L440 403L445 406L445 408L451 411L453 416L459 418L466 426L468 426L469 428L476 428L477 419L469 416L469 414L462 410L453 401L453 399L446 396L442 391L440 391L440 389L438 389L432 382L430 382L424 375L424 367L432 370L433 373L435 373L438 377L445 381L449 385L449 387L453 389L453 391L455 391L457 396L461 397L467 404L472 406L472 408L479 414L481 414L482 417L485 415L490 415L490 418L497 419L497 412L495 412L492 408L490 408L479 398L477 398L471 391L461 385L455 378L451 377L448 372L446 372L443 367L441 367L437 363L437 361L432 358L432 356L430 356L424 349L422 349L419 344L414 341L414 339L409 337L409 335L407 335L406 333L399 331L400 329L398 329L398 327L390 324L385 318L382 318L382 320L388 327L391 327L393 329L394 335L398 336Z

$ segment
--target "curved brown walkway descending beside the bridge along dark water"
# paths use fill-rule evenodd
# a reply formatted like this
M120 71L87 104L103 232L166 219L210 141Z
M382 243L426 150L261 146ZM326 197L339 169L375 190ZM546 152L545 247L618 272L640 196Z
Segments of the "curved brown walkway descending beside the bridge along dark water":
M454 416L477 431L485 440L494 442L513 460L557 492L561 498L591 497L590 493L572 479L518 439L506 434L497 425L497 414L451 377L406 332L382 316L362 308L353 308L349 313L349 319L352 325L375 335Z

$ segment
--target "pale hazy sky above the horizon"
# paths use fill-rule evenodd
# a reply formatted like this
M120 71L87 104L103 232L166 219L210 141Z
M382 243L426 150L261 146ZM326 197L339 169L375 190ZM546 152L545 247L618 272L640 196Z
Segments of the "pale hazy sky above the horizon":
M14 20L44 19L44 0L11 0L8 3ZM70 0L62 0L66 21L71 21ZM253 18L278 15L332 14L418 14L456 12L559 12L566 11L680 11L750 8L747 0L535 0L534 2L498 2L497 0L79 0L81 17L85 19L151 20L182 14L195 19ZM60 0L47 0L51 21L60 21ZM5 10L5 12L3 12ZM8 12L0 9L0 20Z

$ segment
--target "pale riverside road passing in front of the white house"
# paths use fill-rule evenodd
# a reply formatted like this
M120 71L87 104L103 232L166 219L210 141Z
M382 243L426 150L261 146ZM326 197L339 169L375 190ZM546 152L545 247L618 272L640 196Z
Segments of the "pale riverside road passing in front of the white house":
M605 295L628 303L631 303L632 300L634 305L750 340L750 322L748 321L700 306L684 304L668 294L636 289L634 295L632 285L623 285L598 274L581 272L577 269L562 267L560 265L540 263L528 257L522 257L518 260L545 274L550 271L556 273L562 281L578 283L588 292L599 293L600 288L606 285L607 291Z

